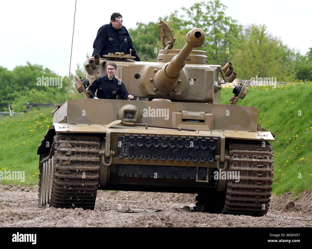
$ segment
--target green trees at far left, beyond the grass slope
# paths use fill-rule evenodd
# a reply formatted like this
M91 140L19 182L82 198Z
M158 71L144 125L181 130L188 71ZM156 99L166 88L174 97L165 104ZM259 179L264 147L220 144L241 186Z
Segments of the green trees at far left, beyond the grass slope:
M45 86L42 77L47 77L49 80L50 78L54 80L59 78L60 85L54 82L54 86ZM3 87L0 88L0 95L2 96L0 98L0 111L7 112L9 104L12 104L14 112L21 112L26 110L26 102L53 102L57 104L66 101L68 76L61 77L41 65L32 65L27 62L26 66L17 66L12 71L0 67L0 80L3 83ZM77 94L72 74L68 98L81 98Z

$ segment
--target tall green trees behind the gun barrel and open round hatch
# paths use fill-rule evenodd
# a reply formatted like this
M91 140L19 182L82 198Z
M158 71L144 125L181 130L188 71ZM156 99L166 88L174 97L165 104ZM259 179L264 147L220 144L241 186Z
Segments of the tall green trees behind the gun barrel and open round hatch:
M189 9L182 7L181 16L178 16L176 10L169 16L159 17L159 20L167 22L173 29L175 49L183 48L185 36L190 29L201 28L206 34L206 40L196 49L207 51L208 63L224 65L233 57L234 48L239 46L239 34L242 30L236 20L225 16L226 8L219 0L200 2ZM148 24L137 22L135 29L129 29L134 47L143 61L157 61L158 50L155 48L162 48L157 25L158 21Z

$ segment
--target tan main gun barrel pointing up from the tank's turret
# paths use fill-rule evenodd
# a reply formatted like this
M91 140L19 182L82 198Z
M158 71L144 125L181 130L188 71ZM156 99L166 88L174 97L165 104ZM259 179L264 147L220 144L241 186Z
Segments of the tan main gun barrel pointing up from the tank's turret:
M182 50L170 62L163 65L161 70L156 72L154 84L158 90L170 92L176 87L188 56L194 47L202 46L205 41L205 33L201 28L193 28L187 33L186 41L187 43Z

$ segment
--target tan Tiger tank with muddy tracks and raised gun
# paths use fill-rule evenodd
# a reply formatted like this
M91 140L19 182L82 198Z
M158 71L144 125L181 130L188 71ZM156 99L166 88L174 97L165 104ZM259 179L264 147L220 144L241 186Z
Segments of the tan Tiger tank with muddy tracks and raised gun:
M54 106L53 126L38 147L39 205L94 209L97 190L197 193L202 212L262 216L269 207L274 134L258 123L258 108L236 105L245 83L220 104L233 64L208 65L205 33L194 28L182 49L164 21L157 62L96 55L86 78L75 76L82 99ZM133 100L90 99L88 87L117 64Z

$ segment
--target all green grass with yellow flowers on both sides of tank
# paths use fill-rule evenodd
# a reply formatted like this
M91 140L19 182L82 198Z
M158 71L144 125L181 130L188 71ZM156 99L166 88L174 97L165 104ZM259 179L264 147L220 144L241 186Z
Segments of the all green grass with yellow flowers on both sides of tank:
M221 103L228 104L232 88L222 89ZM273 190L276 195L312 189L312 84L295 82L275 89L249 87L237 104L258 107L261 126L275 134ZM37 147L52 125L51 107L0 118L0 171L25 171L25 182L0 180L2 184L38 184Z

